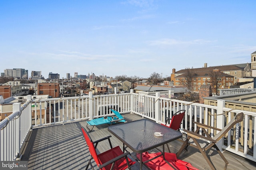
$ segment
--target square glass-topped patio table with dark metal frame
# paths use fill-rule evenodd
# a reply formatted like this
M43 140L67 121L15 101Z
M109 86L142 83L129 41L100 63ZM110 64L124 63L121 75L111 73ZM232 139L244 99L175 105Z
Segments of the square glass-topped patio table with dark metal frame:
M126 150L128 147L136 154L140 154L140 160L138 161L140 162L141 170L142 164L145 163L142 162L143 152L162 146L162 151L158 150L162 152L159 156L163 155L164 158L164 144L182 137L182 133L179 131L175 131L149 119L140 119L112 125L108 127L108 131L123 143L123 150ZM160 132L162 136L154 135L155 132Z

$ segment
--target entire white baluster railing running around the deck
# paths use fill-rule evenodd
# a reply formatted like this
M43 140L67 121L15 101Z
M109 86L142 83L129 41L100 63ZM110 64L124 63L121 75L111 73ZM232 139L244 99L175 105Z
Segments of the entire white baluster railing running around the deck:
M256 162L256 154L254 154L256 153L254 149L256 144L254 135L256 114L250 111L225 108L224 100L218 100L217 106L210 106L161 98L158 92L156 96L151 96L133 93L133 90L131 90L130 93L122 94L92 96L92 93L90 93L89 96L30 100L22 107L23 109L20 109L22 111L14 109L14 113L8 119L0 122L2 129L0 133L0 160L16 159L17 153L20 154L20 150L17 148L21 147L22 141L31 127L43 127L109 116L113 113L110 112L108 107L114 107L120 113L135 113L157 123L165 123L166 116L172 117L176 111L185 109L186 114L180 129L183 133L182 129L196 129L194 121L222 129L235 114L244 112L243 123L236 125L218 143L218 147ZM23 114L26 119L21 119ZM19 117L19 124L17 117ZM23 129L23 122L26 127L22 131L18 130ZM202 132L200 133L202 134ZM217 132L210 131L210 133L214 136ZM18 137L18 134L20 137ZM10 141L13 140L15 142L11 143ZM16 147L18 146L17 143L19 147Z

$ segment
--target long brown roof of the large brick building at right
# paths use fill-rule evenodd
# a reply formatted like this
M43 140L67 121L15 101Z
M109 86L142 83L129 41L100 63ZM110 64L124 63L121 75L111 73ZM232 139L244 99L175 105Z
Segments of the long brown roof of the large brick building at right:
M220 71L228 71L228 70L243 70L243 68L236 65L225 65L225 66L210 66L203 68L189 68L190 72L212 72L213 70L218 69ZM175 72L176 74L186 73L187 69L179 70Z

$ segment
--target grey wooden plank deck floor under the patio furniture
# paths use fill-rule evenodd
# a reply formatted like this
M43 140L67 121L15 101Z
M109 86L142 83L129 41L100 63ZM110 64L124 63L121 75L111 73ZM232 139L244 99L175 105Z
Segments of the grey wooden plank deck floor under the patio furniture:
M127 121L142 119L142 117L130 113L124 114L124 117ZM28 170L84 170L90 158L90 153L80 131L81 125L86 127L86 121L33 129L22 153L22 160L28 161ZM108 125L94 127L90 136L95 141L111 135L107 127ZM111 137L111 142L113 146L119 145L122 148L122 143L114 136ZM169 143L171 152L176 153L181 144L179 141ZM98 152L104 152L108 149L110 149L108 143L104 142L99 143L97 147ZM152 150L152 152L154 151L156 150ZM131 150L130 152L132 153ZM210 158L216 169L223 169L225 164L220 156L216 154L217 152L210 151L210 153ZM256 163L253 161L228 151L224 151L223 154L229 162L228 170L256 169ZM202 154L193 147L188 147L188 152L183 151L179 159L190 162L192 166L200 170L210 170L210 166L204 160ZM92 161L92 163L96 167L95 162ZM139 164L134 164L132 170L139 170Z

